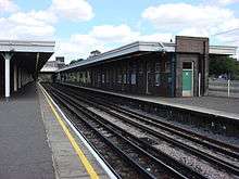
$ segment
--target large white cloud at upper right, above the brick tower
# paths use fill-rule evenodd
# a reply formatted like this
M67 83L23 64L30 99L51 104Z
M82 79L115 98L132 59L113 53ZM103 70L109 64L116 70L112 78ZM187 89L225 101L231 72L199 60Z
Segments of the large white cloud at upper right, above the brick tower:
M204 28L239 25L239 20L228 9L209 5L191 5L187 3L169 3L150 7L142 17L150 21L159 29L181 30L184 28Z

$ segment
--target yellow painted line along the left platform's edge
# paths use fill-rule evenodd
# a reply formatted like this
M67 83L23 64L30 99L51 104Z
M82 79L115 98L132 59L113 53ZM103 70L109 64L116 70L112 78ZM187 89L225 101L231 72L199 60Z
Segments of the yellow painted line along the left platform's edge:
M64 122L62 120L62 118L60 117L60 115L58 114L58 112L55 111L52 102L50 101L50 95L47 93L47 91L40 86L41 91L43 92L50 107L51 111L53 112L56 120L59 122L59 124L61 125L62 129L64 130L66 137L68 138L70 142L72 143L72 146L74 148L75 152L77 153L79 161L81 162L81 164L85 166L87 172L89 174L91 179L99 179L98 174L96 172L96 170L93 169L92 165L90 164L90 162L87 159L86 155L84 154L84 152L80 150L79 145L76 143L75 139L73 138L72 133L70 132L68 128L65 126Z

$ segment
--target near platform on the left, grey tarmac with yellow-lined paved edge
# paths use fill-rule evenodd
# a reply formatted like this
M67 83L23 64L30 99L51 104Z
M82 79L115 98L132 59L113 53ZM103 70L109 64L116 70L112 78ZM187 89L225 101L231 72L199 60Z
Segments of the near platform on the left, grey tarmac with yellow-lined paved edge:
M36 84L0 101L0 178L109 178Z

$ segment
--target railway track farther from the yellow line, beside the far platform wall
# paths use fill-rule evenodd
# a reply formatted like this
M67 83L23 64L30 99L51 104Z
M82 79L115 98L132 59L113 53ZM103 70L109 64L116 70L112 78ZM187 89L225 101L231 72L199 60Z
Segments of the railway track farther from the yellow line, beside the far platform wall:
M178 127L173 128L174 126L168 127L168 126L166 126L168 124L162 124L162 122L156 120L154 118L143 116L142 114L135 113L135 112L133 112L130 110L126 110L124 107L118 107L115 104L109 103L109 101L105 102L102 98L97 100L96 97L93 97L93 99L92 99L92 95L91 97L85 95L83 99L83 98L80 98L80 95L77 91L70 89L70 88L64 88L64 89L65 90L67 89L67 92L71 92L71 95L74 97L75 99L90 103L90 105L98 107L102 111L106 111L106 113L111 114L114 117L121 118L122 120L124 120L127 124L130 124L137 128L140 128L141 130L144 130L148 133L155 136L160 139L163 139L167 142L171 142L175 146L184 149L187 152L190 152L191 154L197 155L197 156L207 161L209 163L212 163L212 164L225 169L227 172L231 172L236 176L239 176L239 167L238 167L238 158L239 158L238 156L239 155L238 155L238 150L235 146L229 148L230 145L228 145L228 144L224 145L223 142L219 142L219 141L216 141L216 140L213 140L210 138L205 138L203 136L192 133L192 132L188 132L186 135L185 129L180 129ZM91 99L91 101L87 101L86 99L87 100ZM93 100L93 102L92 102L92 100ZM130 118L126 117L125 115L130 116ZM134 118L134 120L133 120L133 118ZM153 126L154 129L150 128L149 126ZM175 139L169 138L165 133L156 131L155 127L163 129L163 130L167 130L167 131L172 132L173 135L184 137L187 140L198 142L198 143L200 143L200 145L203 145L204 148L206 146L207 149L219 153L221 154L219 156L226 155L226 157L230 157L230 159L232 158L232 163L231 163L231 161L228 162L228 159L225 161L225 158L222 159L218 156L207 154L205 151L203 151L203 150L200 151L196 148L192 148L191 145L185 144L181 141L178 142Z

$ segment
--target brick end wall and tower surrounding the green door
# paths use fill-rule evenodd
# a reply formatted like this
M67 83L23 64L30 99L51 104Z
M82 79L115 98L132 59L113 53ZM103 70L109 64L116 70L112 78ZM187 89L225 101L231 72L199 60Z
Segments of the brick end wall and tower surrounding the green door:
M198 76L202 74L201 94L209 89L209 38L176 36L176 97L183 94L183 62L193 62L193 95L198 95Z

